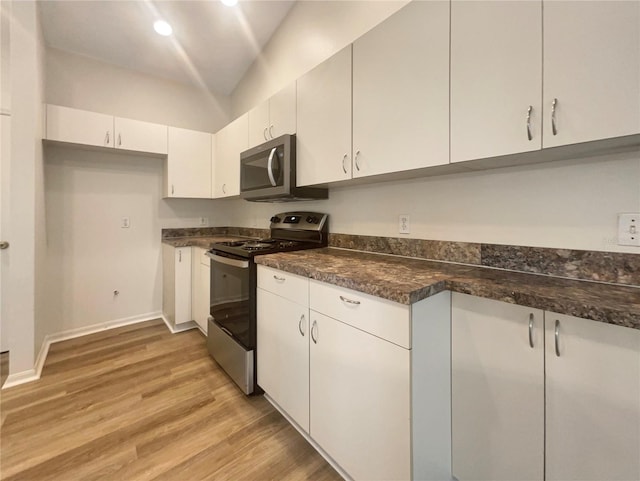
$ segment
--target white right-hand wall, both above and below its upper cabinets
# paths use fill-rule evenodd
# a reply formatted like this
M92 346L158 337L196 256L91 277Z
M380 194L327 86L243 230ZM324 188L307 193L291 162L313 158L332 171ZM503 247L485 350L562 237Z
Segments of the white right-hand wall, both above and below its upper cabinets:
M293 81L397 6L299 2L233 93L234 113ZM329 196L296 205L236 201L232 208L247 227L267 227L274 212L308 208L331 214L332 232L395 237L398 215L409 214L413 238L640 252L615 244L617 214L640 212L640 152L339 186Z

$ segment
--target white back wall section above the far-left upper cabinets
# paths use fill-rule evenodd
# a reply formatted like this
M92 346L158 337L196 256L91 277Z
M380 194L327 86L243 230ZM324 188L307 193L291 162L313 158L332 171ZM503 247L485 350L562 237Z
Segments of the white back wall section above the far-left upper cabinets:
M217 132L230 98L89 57L47 49L47 103Z

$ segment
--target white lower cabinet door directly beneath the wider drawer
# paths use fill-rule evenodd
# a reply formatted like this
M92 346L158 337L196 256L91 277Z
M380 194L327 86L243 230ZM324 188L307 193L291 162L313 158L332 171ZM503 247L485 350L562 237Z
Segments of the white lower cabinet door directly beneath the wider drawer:
M353 479L411 479L410 351L311 311L310 434Z

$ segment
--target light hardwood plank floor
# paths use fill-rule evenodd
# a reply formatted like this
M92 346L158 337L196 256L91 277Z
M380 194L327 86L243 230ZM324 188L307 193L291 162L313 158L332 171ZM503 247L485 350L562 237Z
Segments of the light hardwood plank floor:
M42 378L0 397L6 481L341 479L202 334L161 320L53 344Z

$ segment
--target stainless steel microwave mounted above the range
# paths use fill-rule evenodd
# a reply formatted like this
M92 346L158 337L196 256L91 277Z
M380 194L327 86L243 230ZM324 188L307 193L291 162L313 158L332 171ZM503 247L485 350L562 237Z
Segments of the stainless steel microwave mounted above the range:
M240 197L254 202L326 199L328 189L296 186L296 136L282 135L240 154Z

